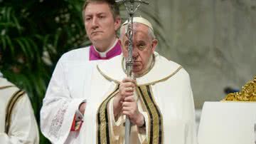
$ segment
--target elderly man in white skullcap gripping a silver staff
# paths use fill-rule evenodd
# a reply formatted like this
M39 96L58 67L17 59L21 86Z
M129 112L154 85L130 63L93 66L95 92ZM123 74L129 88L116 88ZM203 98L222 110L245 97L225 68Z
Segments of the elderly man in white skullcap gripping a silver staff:
M124 143L125 116L136 143L196 144L193 93L188 73L154 52L158 41L146 19L134 18L134 78L127 78L127 24L122 56L97 65L85 113L86 143Z

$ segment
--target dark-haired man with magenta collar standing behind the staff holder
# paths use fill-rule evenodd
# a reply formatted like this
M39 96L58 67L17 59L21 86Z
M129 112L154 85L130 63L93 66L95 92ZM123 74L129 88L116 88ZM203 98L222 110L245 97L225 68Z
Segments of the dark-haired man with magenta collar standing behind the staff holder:
M52 143L82 143L80 133L92 68L97 60L119 55L117 29L121 25L114 0L87 0L82 16L92 46L65 53L57 63L41 109L41 130Z

